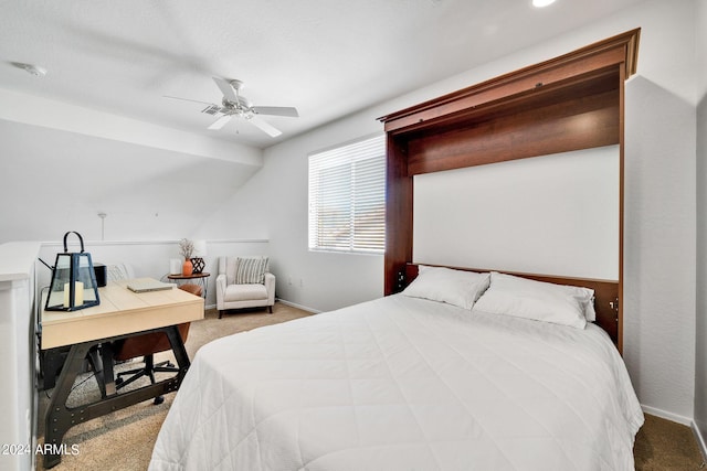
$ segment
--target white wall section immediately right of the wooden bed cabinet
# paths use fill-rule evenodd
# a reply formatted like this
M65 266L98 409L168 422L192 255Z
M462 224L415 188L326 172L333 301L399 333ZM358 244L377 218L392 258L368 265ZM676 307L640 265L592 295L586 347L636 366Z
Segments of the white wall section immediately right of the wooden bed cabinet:
M695 390L695 3L652 4L642 24L639 74L626 85L624 358L646 410L688 424Z

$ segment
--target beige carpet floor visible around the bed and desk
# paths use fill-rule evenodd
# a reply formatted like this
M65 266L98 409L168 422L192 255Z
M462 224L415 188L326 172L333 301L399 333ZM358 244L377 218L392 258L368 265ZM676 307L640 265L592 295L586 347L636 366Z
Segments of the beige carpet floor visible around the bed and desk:
M193 357L201 345L213 339L308 314L279 302L275 303L272 315L263 310L253 310L218 319L217 311L207 311L203 321L191 324L187 351L189 356ZM84 383L78 385L82 381ZM91 375L78 378L76 384L70 403L99 397L96 382ZM48 393L51 394L51 390ZM165 403L159 406L145 402L70 429L64 437L64 443L68 449L75 445L78 453L64 456L62 462L53 470L146 470L157 433L173 397L173 394L168 394L165 396ZM48 395L41 393L40 417L44 416L48 403ZM43 420L40 421L39 429L41 442ZM636 437L634 456L636 470L645 471L698 470L703 462L697 442L688 427L652 416L646 416L646 424ZM44 469L41 457L38 457L36 469Z

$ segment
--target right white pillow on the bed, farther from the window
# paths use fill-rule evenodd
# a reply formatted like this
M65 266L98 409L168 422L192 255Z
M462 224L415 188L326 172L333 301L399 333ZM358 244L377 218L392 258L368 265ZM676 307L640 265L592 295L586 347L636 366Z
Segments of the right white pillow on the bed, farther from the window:
M474 306L493 314L514 315L584 329L594 290L490 274L490 287ZM591 313L593 313L591 307ZM589 313L591 315L591 313Z

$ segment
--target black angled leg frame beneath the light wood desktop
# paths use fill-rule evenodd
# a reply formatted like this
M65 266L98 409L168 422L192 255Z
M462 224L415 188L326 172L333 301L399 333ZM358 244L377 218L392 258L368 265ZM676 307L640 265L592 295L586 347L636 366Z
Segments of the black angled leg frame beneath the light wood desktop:
M78 373L81 373L84 358L88 354L88 351L92 346L99 343L105 343L107 345L110 341L114 340L126 339L128 336L140 335L148 332L165 332L167 334L172 351L175 352L175 358L177 360L177 364L179 365L179 372L176 376L127 393L109 394L110 390L115 389L115 385L113 385L113 365L110 365L109 370L106 368L106 365L112 361L113 354L110 353L109 349L104 350L103 374L106 375L104 376L107 383L104 385L106 396L102 397L101 400L87 405L82 405L80 407L66 406L66 399L68 398L71 388L76 381L76 376L78 375ZM110 355L110 358L105 356L108 354ZM66 363L64 364L61 375L59 376L56 387L54 388L52 399L46 410L44 443L45 446L51 445L51 449L48 450L49 452L44 456L44 468L49 469L55 467L61 462L61 453L63 451L62 440L70 428L86 420L91 420L93 418L110 414L134 404L138 404L144 400L151 399L154 397L179 389L179 385L184 378L184 375L189 370L189 355L187 354L187 349L184 349L184 344L181 340L179 328L177 325L170 325L167 328L137 332L130 335L120 335L110 339L102 339L98 341L91 341L72 345L71 350L68 351L68 356L66 357ZM108 374L110 376L107 376Z

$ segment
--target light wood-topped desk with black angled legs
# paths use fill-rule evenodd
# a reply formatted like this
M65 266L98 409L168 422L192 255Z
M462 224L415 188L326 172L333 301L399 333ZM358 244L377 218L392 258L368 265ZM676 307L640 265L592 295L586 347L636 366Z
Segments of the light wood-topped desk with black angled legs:
M203 319L203 298L176 287L136 293L126 286L127 280L99 288L101 304L93 308L73 312L42 311L42 350L71 345L46 413L44 442L51 443L56 454L44 456L45 468L61 462L62 440L71 427L177 390L187 374L190 362L177 324ZM148 332L167 334L179 373L152 385L117 394L113 383L112 342ZM96 347L103 361L103 397L87 405L67 407L66 399L84 360Z

